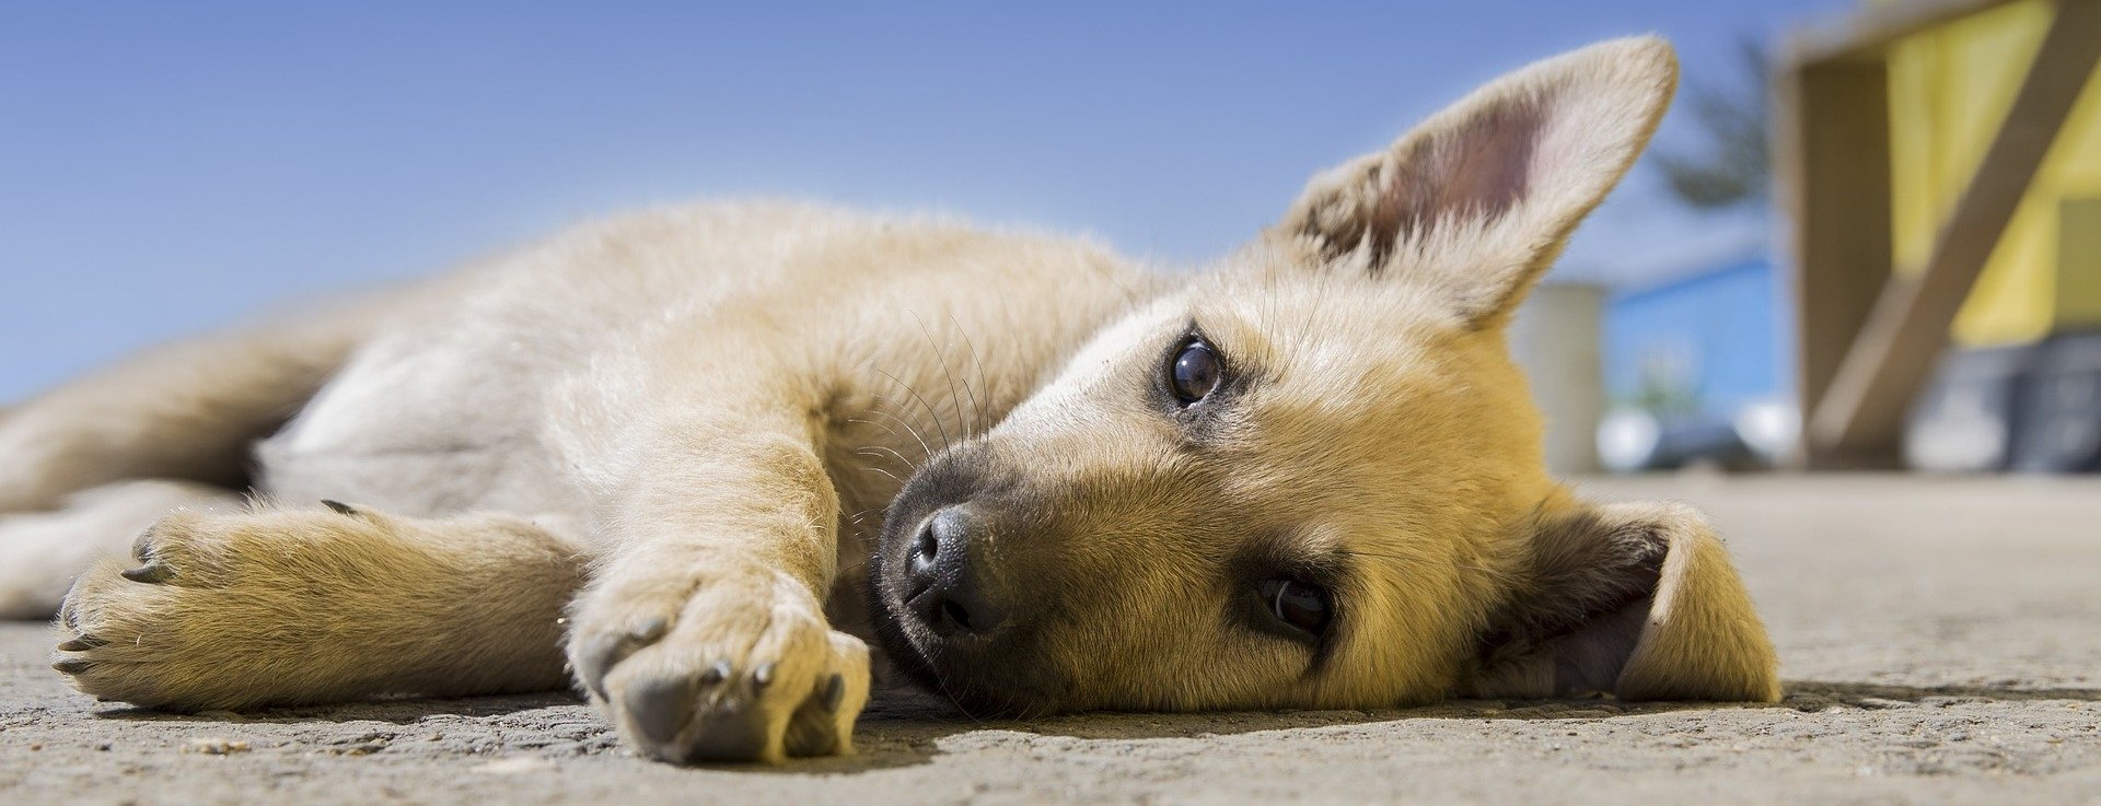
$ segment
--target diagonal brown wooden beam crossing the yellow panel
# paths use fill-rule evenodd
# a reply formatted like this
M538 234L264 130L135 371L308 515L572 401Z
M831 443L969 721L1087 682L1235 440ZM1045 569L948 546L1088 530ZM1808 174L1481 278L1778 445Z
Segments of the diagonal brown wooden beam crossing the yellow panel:
M2036 61L1916 277L1893 277L1807 418L1813 451L1880 453L1927 382L1948 327L2013 220L2086 80L2101 63L2101 0L2057 0Z

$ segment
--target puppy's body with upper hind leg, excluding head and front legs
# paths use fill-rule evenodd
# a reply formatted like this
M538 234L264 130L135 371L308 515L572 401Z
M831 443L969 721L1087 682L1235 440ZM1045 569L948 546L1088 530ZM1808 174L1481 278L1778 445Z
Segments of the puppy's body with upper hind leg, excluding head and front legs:
M687 367L698 376L681 380L687 393L706 390L702 374L754 353L834 386L826 416L840 422L826 426L849 437L832 460L861 512L880 508L912 462L998 420L1153 283L1086 241L941 218L794 204L643 210L370 300L160 348L32 399L0 420L0 447L17 460L0 470L0 512L149 479L414 516L521 512L584 535L580 485L622 462L607 422L630 416L666 369ZM691 338L693 321L712 338ZM90 521L107 533L86 546L80 529L0 529L0 556L21 554L23 577L0 575L4 613L50 613L78 563L122 548L183 497L158 487L101 500L105 514ZM53 544L71 548L29 563ZM32 567L34 577L21 571Z

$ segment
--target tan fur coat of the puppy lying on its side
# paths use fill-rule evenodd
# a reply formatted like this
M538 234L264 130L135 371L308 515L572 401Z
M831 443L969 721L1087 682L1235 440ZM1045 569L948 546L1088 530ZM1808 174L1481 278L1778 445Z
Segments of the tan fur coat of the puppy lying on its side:
M851 751L872 638L983 709L1771 699L1712 531L1574 502L1502 342L1674 78L1658 40L1527 67L1204 275L798 206L588 225L324 327L353 336L174 348L32 401L0 420L34 447L0 510L231 483L225 445L298 407L258 489L351 514L181 512L67 598L59 667L162 707L519 691L567 661L645 754L779 760ZM1191 334L1233 386L1162 407ZM977 655L906 613L939 506L975 512L973 573L1023 611ZM1250 594L1313 571L1317 644Z

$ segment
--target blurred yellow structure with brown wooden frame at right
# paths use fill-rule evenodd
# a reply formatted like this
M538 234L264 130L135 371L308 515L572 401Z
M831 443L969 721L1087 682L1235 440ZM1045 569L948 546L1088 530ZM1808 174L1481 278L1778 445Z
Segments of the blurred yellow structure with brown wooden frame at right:
M2101 470L2101 2L1882 2L1790 40L1811 468Z

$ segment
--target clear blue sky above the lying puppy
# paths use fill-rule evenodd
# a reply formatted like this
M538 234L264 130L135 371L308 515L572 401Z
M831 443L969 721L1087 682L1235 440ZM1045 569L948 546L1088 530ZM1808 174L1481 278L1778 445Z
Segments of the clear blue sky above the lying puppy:
M1847 6L4 2L0 401L698 195L948 210L1200 260L1313 170L1530 59L1658 31L1691 80L1733 80L1738 36ZM1565 267L1616 277L1704 229L1637 176Z

